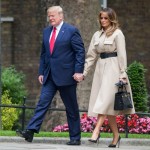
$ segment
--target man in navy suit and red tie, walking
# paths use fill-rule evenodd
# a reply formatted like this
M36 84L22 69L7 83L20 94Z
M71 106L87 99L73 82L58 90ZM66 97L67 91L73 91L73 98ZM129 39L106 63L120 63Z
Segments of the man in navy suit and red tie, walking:
M26 130L17 134L32 142L38 133L44 116L58 90L66 107L70 141L68 145L80 145L80 116L76 96L77 78L84 69L85 49L78 29L63 21L63 10L53 6L47 10L51 26L43 31L39 66L39 82L42 84L40 100Z

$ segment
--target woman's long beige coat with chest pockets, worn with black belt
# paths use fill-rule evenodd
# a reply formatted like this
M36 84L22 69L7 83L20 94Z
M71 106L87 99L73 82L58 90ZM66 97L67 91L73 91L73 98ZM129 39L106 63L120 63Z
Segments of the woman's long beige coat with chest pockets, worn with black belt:
M101 59L100 53L102 52L117 52L117 57ZM119 81L119 78L127 78L127 90L132 96L131 86L126 73L127 57L125 37L120 29L116 29L109 37L106 36L103 30L95 32L87 52L84 76L87 75L95 61L97 62L93 77L88 115L97 116L97 114L119 115L135 113L134 108L125 111L114 110L115 93L118 90L115 83Z

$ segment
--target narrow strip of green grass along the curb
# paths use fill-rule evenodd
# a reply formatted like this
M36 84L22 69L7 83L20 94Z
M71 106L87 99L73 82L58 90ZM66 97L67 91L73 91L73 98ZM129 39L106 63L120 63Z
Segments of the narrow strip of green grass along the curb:
M82 137L90 138L92 133L82 132ZM5 131L0 130L0 136L16 136L15 131ZM124 133L120 133L122 138L125 138ZM35 137L69 137L68 132L43 132L41 131L39 134L35 134ZM112 138L112 133L101 133L102 138ZM141 138L141 139L150 139L150 134L128 134L128 138Z

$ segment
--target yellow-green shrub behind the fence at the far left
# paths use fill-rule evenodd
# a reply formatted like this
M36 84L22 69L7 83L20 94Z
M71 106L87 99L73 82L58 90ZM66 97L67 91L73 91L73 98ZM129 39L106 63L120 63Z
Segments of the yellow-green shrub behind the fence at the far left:
M9 97L9 92L4 91L2 94L2 104L8 104L11 105L11 98ZM18 119L18 112L16 108L7 108L2 107L2 129L3 130L11 130L14 122Z

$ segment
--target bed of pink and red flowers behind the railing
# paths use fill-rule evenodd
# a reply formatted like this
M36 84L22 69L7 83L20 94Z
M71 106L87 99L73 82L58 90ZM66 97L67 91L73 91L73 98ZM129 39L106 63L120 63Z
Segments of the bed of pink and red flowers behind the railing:
M119 115L116 117L117 125L119 132L125 132L125 116ZM82 132L92 132L95 128L97 118L88 117L86 113L81 116L81 131ZM150 133L150 118L143 117L140 118L138 115L133 114L128 116L128 130L129 133ZM58 125L53 129L53 132L65 132L69 131L68 124ZM108 119L105 119L102 127L100 128L101 132L111 132Z

